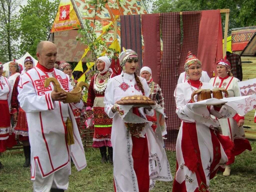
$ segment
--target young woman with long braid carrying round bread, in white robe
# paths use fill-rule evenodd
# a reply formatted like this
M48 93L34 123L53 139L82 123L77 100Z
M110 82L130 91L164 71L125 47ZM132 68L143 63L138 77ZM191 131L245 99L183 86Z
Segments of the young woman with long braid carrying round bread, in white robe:
M163 148L163 138L158 138L146 120L145 112L152 110L115 104L132 95L149 96L145 79L136 75L138 55L128 49L120 54L123 71L108 82L105 91L105 112L113 118L111 142L113 145L115 191L149 191L150 179L170 181L169 163ZM125 117L123 117L125 114ZM137 130L137 131L135 131ZM161 141L161 142L160 142ZM149 175L149 165L156 167Z

